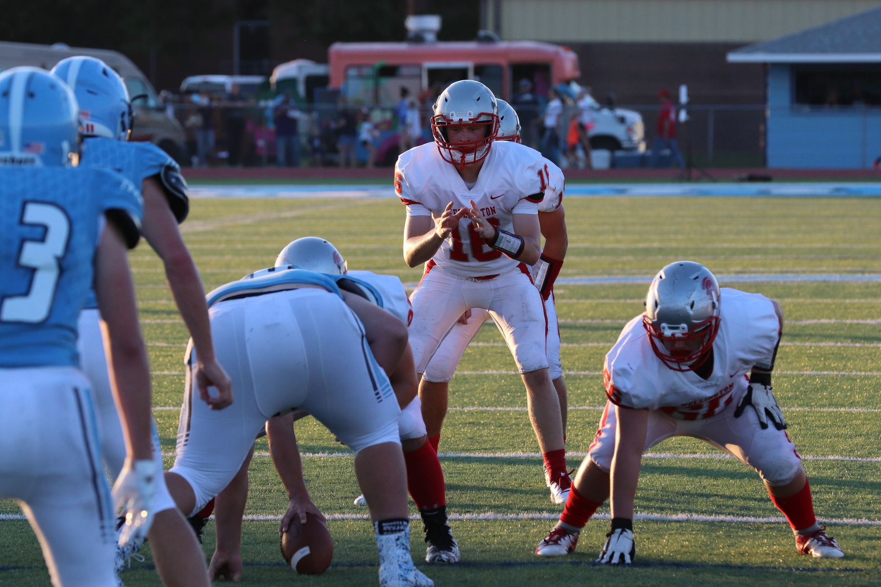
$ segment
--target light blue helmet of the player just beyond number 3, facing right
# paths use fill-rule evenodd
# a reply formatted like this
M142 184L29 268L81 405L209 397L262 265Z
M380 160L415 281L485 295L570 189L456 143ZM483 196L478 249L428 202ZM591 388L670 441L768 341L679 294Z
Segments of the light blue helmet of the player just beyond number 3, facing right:
M95 57L78 55L52 68L77 95L83 136L125 141L131 129L129 91L122 77Z

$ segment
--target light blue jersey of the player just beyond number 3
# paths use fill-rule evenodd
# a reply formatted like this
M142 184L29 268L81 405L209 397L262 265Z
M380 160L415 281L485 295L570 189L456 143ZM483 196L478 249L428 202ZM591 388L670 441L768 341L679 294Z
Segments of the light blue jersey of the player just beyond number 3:
M145 179L159 176L159 185L163 187L168 199L168 206L178 223L183 222L189 213L187 184L181 177L180 166L164 150L152 143L126 143L100 136L86 138L79 165L81 167L108 167L115 172L122 173L122 176L130 180L138 191L141 189L141 182ZM172 187L167 184L171 184ZM89 292L85 307L98 307L94 291Z

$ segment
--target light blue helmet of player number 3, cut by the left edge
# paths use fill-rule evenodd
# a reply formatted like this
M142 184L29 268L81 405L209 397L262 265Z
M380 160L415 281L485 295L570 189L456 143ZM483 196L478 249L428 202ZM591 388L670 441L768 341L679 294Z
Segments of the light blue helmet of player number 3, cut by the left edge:
M77 99L47 70L0 74L0 165L70 165L78 151Z

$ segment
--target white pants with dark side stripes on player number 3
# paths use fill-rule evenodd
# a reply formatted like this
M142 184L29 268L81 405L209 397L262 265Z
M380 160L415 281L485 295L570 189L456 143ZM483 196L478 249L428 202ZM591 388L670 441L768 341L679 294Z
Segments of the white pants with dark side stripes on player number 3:
M53 585L115 587L113 503L78 369L0 369L0 498L19 500Z

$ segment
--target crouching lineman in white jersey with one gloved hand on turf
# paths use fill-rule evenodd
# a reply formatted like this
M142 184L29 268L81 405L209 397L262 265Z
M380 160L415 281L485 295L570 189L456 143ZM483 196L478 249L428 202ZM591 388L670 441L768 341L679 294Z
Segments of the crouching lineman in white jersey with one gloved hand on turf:
M611 530L597 562L633 562L641 455L667 438L685 436L759 473L795 532L800 553L844 556L817 524L811 486L772 393L780 305L760 294L720 290L707 268L677 261L655 275L645 306L606 355L608 402L600 429L559 523L536 554L573 552L581 528L611 495Z

